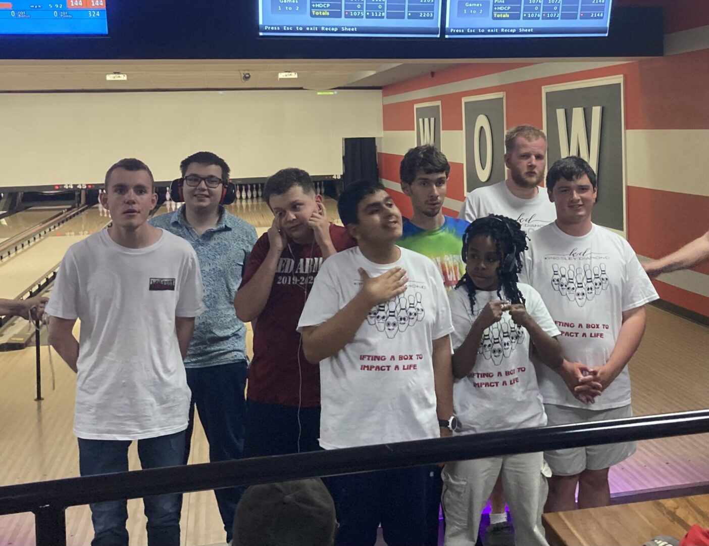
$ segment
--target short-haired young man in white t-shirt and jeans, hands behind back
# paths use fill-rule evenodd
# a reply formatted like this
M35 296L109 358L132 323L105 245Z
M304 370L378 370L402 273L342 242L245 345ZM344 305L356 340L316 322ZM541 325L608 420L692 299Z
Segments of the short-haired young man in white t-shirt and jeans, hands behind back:
M106 173L113 225L67 251L47 305L50 343L77 373L74 434L82 476L183 464L190 391L183 357L203 312L197 256L147 223L152 173L124 159ZM79 341L74 323L81 321ZM143 499L149 546L179 546L180 496ZM128 546L126 501L91 505L91 546Z

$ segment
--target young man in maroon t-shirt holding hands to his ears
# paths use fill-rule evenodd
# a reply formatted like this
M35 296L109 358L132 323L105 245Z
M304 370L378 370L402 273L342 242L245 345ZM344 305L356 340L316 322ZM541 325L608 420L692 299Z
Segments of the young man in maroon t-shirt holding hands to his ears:
M254 329L245 457L319 449L320 366L306 360L296 327L323 260L356 244L328 222L304 170L273 175L264 199L274 221L254 246L234 299L237 316Z

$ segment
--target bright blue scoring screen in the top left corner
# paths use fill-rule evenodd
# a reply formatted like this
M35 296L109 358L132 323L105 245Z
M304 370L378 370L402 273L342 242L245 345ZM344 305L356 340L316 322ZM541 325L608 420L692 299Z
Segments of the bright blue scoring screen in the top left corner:
M108 34L106 0L0 0L0 36Z

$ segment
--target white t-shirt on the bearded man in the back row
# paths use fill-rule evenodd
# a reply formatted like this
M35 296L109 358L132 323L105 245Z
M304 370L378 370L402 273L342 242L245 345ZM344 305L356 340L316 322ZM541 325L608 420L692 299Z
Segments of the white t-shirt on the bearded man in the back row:
M490 214L501 214L517 220L528 235L557 219L557 209L549 201L546 188L537 189L539 191L532 199L520 199L510 192L505 180L491 186L476 187L465 198L458 217L473 222Z

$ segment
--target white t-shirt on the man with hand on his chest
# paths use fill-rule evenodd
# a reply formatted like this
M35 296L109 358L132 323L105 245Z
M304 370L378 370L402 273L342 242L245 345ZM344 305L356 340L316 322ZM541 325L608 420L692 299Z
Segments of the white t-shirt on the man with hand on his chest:
M443 278L435 263L401 249L386 265L358 247L330 256L320 268L298 331L323 324L370 277L406 269L406 292L374 307L352 342L320 362L320 446L325 449L435 438L440 435L433 383L432 344L453 331Z

